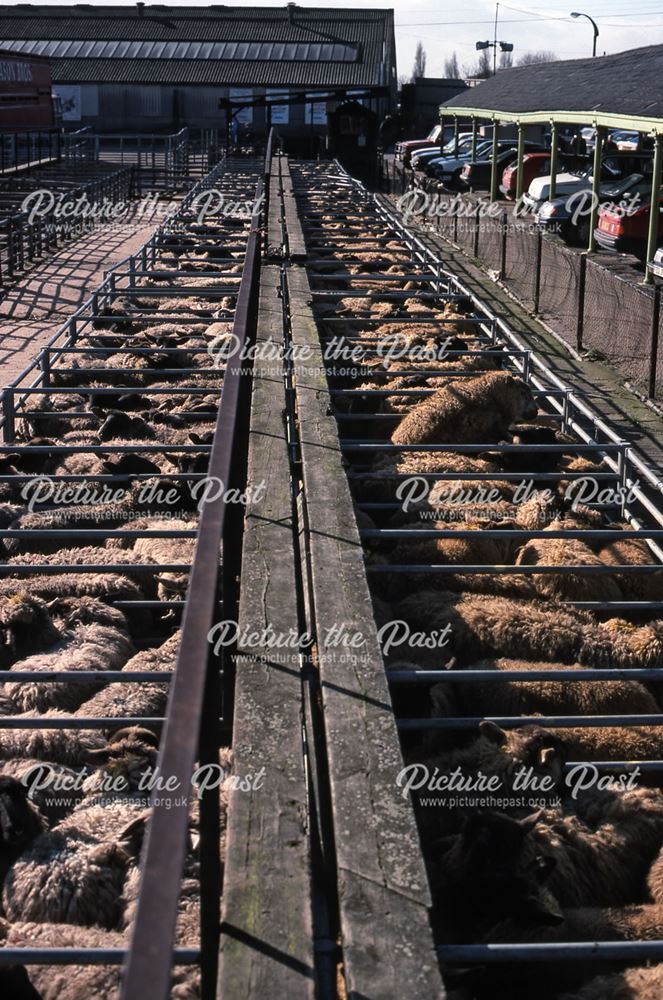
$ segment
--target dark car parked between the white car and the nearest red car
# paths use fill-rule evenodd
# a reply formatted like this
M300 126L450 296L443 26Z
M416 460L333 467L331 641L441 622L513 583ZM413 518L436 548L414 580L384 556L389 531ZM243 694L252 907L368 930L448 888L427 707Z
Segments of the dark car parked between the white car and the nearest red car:
M599 205L625 206L636 195L649 198L651 177L645 174L629 174L615 183L601 184L598 192ZM573 197L564 195L545 202L536 213L536 222L542 229L555 229L568 243L589 243L591 225L591 186L576 191Z

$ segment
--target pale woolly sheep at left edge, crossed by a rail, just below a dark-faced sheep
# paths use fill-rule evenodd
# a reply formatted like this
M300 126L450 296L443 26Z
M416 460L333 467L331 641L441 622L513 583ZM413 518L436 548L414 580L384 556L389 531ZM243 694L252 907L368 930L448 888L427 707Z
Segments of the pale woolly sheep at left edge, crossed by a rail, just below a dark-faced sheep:
M83 599L81 610L68 619L68 628L50 649L14 663L9 674L24 671L59 673L62 670L119 670L129 659L133 646L127 633L124 615L98 601ZM81 684L52 684L35 681L0 687L0 705L4 713L41 712L48 708L73 711L98 687L89 681Z

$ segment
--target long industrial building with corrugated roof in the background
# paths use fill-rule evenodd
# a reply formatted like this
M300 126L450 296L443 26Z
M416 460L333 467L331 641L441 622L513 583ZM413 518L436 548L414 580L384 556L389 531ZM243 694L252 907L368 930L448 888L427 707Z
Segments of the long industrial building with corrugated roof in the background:
M222 128L230 100L263 133L256 99L307 88L361 91L379 118L396 101L391 10L15 4L0 8L0 48L48 56L65 123L96 132ZM333 106L269 114L285 137L322 133Z

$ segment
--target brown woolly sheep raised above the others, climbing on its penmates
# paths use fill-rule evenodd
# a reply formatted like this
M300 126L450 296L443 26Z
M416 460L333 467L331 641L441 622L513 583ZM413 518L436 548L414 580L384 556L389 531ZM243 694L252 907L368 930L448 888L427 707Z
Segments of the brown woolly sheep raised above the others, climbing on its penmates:
M510 372L454 381L418 403L391 435L394 444L498 441L509 424L536 416L529 387Z

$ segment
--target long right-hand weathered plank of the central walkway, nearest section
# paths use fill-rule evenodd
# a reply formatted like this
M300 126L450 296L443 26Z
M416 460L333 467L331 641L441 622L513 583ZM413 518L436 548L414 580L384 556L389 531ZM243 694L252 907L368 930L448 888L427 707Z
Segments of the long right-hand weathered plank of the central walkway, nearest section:
M287 271L345 982L351 997L445 996L431 899L306 271ZM358 635L337 644L341 626Z

